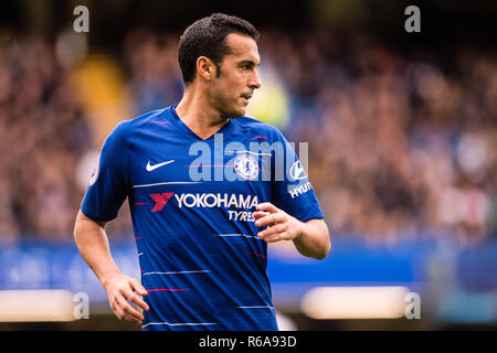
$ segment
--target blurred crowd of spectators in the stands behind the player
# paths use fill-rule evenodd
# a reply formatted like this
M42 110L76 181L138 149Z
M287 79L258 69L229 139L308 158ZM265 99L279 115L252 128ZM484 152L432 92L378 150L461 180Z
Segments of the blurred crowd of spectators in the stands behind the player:
M310 142L309 175L334 235L464 245L495 236L495 52L457 47L447 69L436 53L406 54L364 33L260 30L263 84L283 92L273 104L287 116L255 117ZM137 26L123 36L113 63L133 109L116 119L179 101L179 35ZM86 186L80 165L102 143L73 84L77 65L66 64L75 44L0 39L1 239L70 240ZM114 227L131 231L127 215Z

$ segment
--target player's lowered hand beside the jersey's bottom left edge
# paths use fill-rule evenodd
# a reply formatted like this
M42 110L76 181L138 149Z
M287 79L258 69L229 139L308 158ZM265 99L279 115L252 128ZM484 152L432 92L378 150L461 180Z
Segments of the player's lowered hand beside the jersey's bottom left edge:
M141 324L144 314L129 303L133 302L145 311L149 310L148 304L135 293L136 291L140 296L148 295L141 284L135 278L117 274L106 279L103 285L115 315L119 320L125 319Z

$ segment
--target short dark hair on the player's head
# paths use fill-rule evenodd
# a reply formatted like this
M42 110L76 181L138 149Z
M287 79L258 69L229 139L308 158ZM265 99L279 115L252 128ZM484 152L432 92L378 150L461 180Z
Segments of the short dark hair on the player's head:
M226 36L237 33L258 40L258 32L245 20L224 13L213 13L190 24L180 38L178 61L184 85L193 82L197 60L205 56L212 60L220 74L224 55L230 54Z

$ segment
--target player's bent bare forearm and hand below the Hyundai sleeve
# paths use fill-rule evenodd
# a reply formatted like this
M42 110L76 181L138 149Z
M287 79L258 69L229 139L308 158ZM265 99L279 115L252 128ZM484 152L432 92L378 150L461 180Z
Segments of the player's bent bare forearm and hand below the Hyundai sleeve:
M324 259L330 248L329 231L325 221L300 222L269 202L257 205L255 225L268 227L257 234L267 243L293 240L297 250L307 257Z

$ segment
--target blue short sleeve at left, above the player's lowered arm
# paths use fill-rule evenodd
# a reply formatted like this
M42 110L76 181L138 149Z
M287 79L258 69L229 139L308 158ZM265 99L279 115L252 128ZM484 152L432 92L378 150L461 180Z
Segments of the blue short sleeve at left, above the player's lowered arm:
M83 214L88 218L103 222L116 218L128 195L127 128L127 121L117 125L102 147L81 205Z

